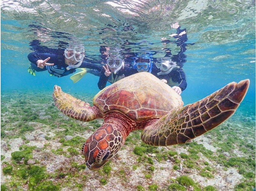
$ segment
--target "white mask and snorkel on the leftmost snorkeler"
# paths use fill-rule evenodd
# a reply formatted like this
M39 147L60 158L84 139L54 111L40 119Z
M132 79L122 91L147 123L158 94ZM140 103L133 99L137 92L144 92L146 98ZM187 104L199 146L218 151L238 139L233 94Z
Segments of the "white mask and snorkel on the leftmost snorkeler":
M72 49L72 48L67 48L64 51L64 56L67 59L70 59L72 61L76 61L77 63L74 65L69 65L66 69L70 70L71 68L78 68L79 66L81 66L83 59L84 59L84 55L82 53L84 53L84 47L77 48L78 50L76 50L76 48Z

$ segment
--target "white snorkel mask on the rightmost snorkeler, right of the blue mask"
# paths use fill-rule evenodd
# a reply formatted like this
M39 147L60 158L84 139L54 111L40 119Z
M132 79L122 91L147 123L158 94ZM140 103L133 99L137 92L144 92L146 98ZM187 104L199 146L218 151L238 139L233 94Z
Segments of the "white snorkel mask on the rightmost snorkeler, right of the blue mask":
M176 62L170 60L170 57L161 58L161 63L157 62L156 67L161 70L157 75L166 75L172 72L174 68L180 68Z

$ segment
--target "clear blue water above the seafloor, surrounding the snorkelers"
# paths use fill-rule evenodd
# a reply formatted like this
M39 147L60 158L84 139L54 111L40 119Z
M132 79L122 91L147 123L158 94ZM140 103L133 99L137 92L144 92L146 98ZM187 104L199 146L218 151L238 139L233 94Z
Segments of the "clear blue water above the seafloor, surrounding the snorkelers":
M95 4L87 3L84 4L84 9L93 8L96 10ZM106 2L103 1L98 6L101 13L104 11L103 5L106 5L104 3ZM236 4L237 2L234 1L233 3ZM1 14L1 94L4 95L13 90L45 90L47 94L43 96L51 96L49 92L55 84L63 87L64 91L71 94L72 92L96 94L99 91L97 87L99 77L90 73L87 73L76 84L73 84L69 79L70 76L57 78L50 76L47 71L37 72L36 76L30 75L27 72L30 64L27 55L32 51L29 42L38 38L35 31L31 31L29 27L31 24L37 23L47 28L47 30L49 29L45 32L46 36L47 34L51 36L54 31L72 34L72 37L76 37L83 43L86 54L90 59L99 60L100 45L120 47L120 42L123 43L126 40L129 42L147 41L142 44L141 49L147 48L151 51L161 52L160 37L164 35L168 37L166 34L175 32L170 28L170 23L175 21L179 22L181 28L187 28L187 43L195 43L193 46L189 45L185 52L187 62L183 69L187 76L188 86L181 94L184 104L202 99L229 82L238 82L248 78L250 79L250 87L241 108L246 108L247 112L255 115L255 12L253 11L255 2L244 2L239 8L234 8L236 7L234 4L228 5L217 2L213 9L212 4L209 3L206 8L204 7L204 11L197 12L194 17L185 19L180 16L180 18L178 17L179 14L175 13L174 18L170 19L172 13L175 12L175 8L179 12L182 6L187 6L186 3L180 5L180 7L175 5L176 7L172 8L169 15L168 12L163 12L162 17L169 18L169 20L166 19L164 22L163 19L160 19L159 26L157 26L157 19L153 20L152 18L157 18L155 14L159 10L151 11L148 15L145 15L145 12L140 12L134 8L133 12L138 13L139 16L133 18L128 13L120 13L114 7L108 7L105 13L110 15L111 18L102 17L99 19L96 14L98 13L97 10L96 12L86 13L86 17L76 17L75 9L68 12L68 8L60 3L60 6L63 6L60 9L61 11L58 11L55 5L51 4L50 7L45 7L45 9L47 8L49 11L54 9L55 12L49 12L48 16L46 13L40 12L42 17L37 17L33 11L26 13L18 8L13 11L11 9L12 5L4 2ZM146 4L145 10L151 10L155 5ZM162 5L164 6L164 4ZM24 9L40 11L40 8L33 4L20 3L19 6ZM168 8L167 5L165 6ZM227 10L227 8L230 8L230 14L232 13L234 19L227 15L220 16L220 13L225 9ZM41 9L44 9L44 7L41 7ZM47 16L46 18L44 18L44 14ZM160 15L158 15L159 18ZM50 16L53 18L47 20ZM211 19L212 16L213 19ZM94 20L96 17L98 19ZM63 19L60 18L70 19L65 21L69 27L65 28L61 25ZM78 18L82 26L79 26ZM60 19L60 24L56 19ZM212 22L209 22L210 20ZM99 34L107 24L118 26L123 22L131 24L133 30L125 32L122 27L114 27L115 31L107 30ZM141 27L143 24L145 24L144 30ZM43 39L43 37L40 38ZM172 40L171 38L168 37ZM41 43L49 48L57 48L57 42L60 40L68 42L65 35L64 37L55 35L54 38L45 38ZM134 52L140 51L140 48L134 48ZM110 85L110 83L107 85Z

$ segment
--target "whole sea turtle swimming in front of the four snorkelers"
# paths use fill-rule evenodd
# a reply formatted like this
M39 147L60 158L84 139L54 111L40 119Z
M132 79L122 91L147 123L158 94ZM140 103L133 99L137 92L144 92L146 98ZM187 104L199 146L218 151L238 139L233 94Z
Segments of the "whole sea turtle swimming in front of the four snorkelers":
M98 170L124 145L131 131L143 129L141 140L149 145L184 144L230 117L243 100L249 80L231 82L210 96L183 107L181 97L167 84L141 72L101 90L93 106L54 86L55 105L69 117L104 122L84 143L86 165Z

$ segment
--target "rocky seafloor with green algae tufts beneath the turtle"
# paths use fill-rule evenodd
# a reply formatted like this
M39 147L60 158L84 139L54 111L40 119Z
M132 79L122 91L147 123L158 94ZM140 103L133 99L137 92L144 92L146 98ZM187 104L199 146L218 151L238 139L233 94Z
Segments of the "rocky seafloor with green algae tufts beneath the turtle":
M73 94L88 103L93 95ZM1 95L1 190L252 190L255 114L238 110L191 143L153 147L132 132L103 168L81 147L102 120L64 116L51 92Z

